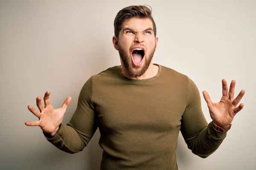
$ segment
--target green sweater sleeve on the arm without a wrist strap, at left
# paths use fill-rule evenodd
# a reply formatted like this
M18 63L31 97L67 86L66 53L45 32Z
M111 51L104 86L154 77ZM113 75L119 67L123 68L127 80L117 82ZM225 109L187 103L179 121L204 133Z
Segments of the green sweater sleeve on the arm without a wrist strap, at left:
M76 111L67 125L60 125L58 133L51 139L46 139L55 147L67 153L77 153L87 146L97 125L97 116L93 105L93 77L82 87Z

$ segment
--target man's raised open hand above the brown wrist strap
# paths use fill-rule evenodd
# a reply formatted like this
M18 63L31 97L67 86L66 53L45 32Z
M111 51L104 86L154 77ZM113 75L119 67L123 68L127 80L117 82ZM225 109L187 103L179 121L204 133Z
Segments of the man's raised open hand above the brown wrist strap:
M204 99L207 102L210 116L212 120L221 127L229 126L233 121L234 116L236 116L236 113L241 111L241 109L244 107L243 103L236 107L244 96L245 91L241 90L238 96L234 99L235 86L236 81L232 80L228 92L227 81L222 79L222 97L221 101L218 103L213 103L207 91L203 91Z

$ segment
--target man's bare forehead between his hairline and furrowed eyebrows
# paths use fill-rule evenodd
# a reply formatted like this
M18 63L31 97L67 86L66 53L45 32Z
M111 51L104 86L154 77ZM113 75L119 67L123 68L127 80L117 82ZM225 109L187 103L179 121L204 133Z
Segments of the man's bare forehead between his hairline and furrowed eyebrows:
M129 18L125 22L122 23L122 28L132 28L134 31L142 31L147 28L153 29L153 23L149 18Z

